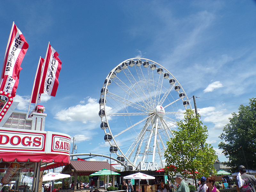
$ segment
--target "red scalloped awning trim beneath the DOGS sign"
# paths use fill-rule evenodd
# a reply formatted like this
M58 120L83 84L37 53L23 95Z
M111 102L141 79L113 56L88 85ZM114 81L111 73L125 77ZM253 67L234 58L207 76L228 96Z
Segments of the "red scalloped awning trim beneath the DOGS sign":
M0 152L0 160L3 162L42 162L44 163L66 163L69 164L70 156L61 154L46 154L46 153L12 153Z

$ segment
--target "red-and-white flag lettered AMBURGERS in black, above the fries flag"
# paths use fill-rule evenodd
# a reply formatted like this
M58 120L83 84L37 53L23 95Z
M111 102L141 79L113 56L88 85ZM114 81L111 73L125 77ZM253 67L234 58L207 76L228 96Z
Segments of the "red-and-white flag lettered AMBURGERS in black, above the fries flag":
M7 52L4 58L4 65L1 79L4 76L11 76L16 80L20 71L20 64L28 50L28 43L20 29L14 24L10 35L10 42L7 45Z

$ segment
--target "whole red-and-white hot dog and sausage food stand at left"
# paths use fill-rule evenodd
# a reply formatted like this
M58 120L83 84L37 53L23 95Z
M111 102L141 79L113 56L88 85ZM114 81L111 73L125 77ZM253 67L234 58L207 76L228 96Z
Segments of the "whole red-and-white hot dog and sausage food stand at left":
M44 170L69 164L71 138L44 131L45 116L37 111L30 115L13 111L6 122L1 122L0 190L41 192ZM33 180L28 182L25 176Z

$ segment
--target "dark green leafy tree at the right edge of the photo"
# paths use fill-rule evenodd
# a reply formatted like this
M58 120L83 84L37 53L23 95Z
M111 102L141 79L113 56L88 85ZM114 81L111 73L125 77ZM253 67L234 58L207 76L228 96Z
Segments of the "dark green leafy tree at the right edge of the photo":
M223 149L229 159L226 164L233 171L241 164L248 169L256 169L256 98L249 100L249 106L240 105L238 114L232 113L229 123L219 136L223 140L219 148Z

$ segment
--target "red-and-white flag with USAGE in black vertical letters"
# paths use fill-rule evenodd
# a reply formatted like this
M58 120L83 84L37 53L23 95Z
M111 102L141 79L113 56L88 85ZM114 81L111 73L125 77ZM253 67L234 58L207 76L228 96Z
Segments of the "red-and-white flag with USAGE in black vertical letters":
M59 85L58 78L61 69L61 61L58 56L59 54L49 44L39 93L46 93L47 95L55 97Z

